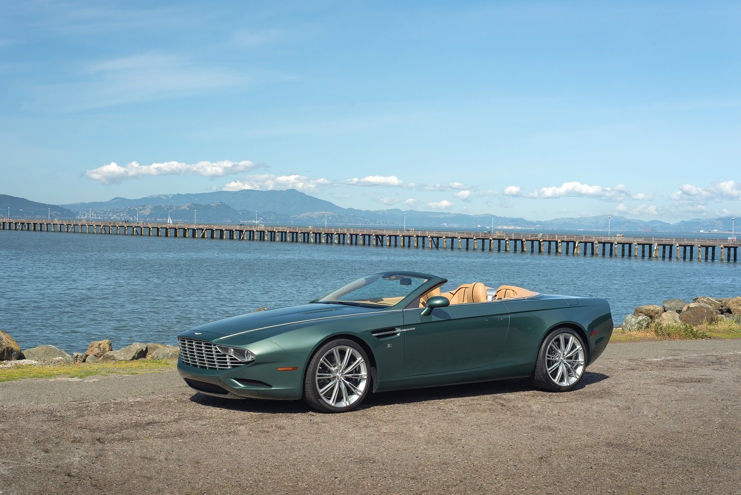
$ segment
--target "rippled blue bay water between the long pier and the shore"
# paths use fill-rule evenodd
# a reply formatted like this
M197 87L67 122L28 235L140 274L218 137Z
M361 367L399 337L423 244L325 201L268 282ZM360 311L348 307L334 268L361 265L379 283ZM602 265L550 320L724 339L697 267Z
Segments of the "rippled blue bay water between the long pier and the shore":
M741 294L741 263L0 230L0 329L21 345L175 344L182 330L307 302L382 270L605 297L614 320L663 299Z

